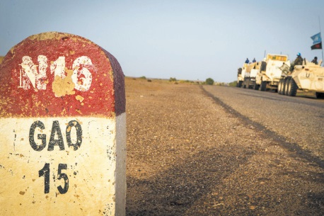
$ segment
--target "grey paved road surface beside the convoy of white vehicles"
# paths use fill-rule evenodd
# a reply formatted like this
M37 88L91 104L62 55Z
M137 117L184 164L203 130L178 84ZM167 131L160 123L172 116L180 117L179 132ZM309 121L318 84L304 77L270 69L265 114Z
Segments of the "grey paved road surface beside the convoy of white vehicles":
M253 89L204 86L232 113L248 120L287 148L324 166L324 100ZM300 95L300 94L299 94Z

